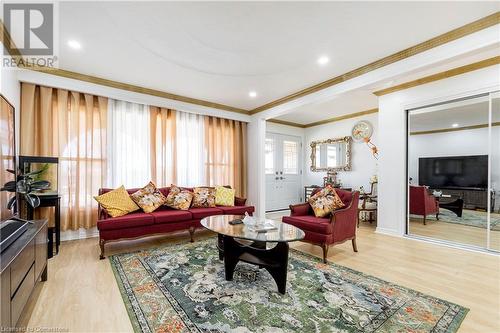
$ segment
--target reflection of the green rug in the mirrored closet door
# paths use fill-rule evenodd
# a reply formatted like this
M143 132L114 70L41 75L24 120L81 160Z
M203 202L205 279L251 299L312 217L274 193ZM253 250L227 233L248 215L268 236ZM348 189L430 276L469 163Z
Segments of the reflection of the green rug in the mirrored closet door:
M422 220L422 216L419 215L410 215L410 216L414 220L419 220L419 221ZM436 220L435 215L427 216L427 220L436 221L437 223L446 222L446 223L461 224L483 229L486 229L486 226L488 225L486 212L470 210L470 209L464 209L462 212L462 217L458 217L457 214L453 213L452 211L440 208L439 221ZM500 231L500 214L496 213L491 214L490 228L491 230L494 231Z

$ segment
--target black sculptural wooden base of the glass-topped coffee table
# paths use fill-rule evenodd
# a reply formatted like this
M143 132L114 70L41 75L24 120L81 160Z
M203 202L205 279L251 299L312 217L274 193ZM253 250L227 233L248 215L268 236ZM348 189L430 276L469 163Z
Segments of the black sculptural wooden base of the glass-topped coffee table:
M219 259L224 260L227 281L233 280L236 264L244 261L266 269L276 282L278 291L285 294L289 251L287 242L277 242L275 247L268 250L265 242L254 241L245 245L233 237L219 234L218 248Z

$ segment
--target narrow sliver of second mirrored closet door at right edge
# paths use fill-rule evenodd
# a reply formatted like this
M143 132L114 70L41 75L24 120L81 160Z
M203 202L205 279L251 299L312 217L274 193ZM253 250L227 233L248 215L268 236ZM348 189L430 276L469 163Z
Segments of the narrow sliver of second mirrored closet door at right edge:
M491 214L490 249L500 251L500 92L491 98Z

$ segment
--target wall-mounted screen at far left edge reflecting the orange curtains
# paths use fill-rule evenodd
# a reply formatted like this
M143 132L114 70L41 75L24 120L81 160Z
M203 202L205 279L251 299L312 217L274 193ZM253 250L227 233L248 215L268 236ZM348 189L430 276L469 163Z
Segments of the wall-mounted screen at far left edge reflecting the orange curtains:
M7 169L16 170L14 107L0 95L0 187L15 180L15 175ZM7 209L7 203L15 193L0 191L0 222L13 216Z

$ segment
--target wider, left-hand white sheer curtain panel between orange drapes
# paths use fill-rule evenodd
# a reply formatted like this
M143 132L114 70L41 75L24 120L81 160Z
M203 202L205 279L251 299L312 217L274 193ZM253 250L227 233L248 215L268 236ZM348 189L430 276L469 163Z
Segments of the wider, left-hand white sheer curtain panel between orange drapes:
M151 180L149 106L109 99L108 186L142 187Z

